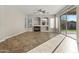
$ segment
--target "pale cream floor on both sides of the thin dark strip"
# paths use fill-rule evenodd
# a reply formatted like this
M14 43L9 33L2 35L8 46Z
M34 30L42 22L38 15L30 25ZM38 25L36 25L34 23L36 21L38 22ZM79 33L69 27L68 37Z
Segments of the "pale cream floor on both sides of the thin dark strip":
M30 50L28 53L52 53L64 37L65 36L59 34L40 46ZM66 37L54 53L78 53L76 40Z

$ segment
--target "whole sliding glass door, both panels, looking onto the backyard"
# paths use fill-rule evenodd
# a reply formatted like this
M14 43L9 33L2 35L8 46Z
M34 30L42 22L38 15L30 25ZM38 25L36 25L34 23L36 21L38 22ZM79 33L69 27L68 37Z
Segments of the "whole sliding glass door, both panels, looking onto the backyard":
M76 8L61 15L60 16L61 33L71 38L77 39L76 22L77 22Z

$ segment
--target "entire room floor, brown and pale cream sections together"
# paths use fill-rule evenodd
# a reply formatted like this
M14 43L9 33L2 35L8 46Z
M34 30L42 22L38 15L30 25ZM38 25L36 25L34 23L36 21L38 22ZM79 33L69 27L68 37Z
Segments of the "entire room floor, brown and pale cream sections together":
M78 53L76 40L62 34L25 32L0 43L4 53Z

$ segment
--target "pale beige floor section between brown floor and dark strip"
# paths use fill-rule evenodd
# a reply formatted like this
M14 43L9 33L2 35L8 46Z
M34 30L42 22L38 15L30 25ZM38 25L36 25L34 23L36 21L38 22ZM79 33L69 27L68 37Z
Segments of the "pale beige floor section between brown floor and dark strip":
M64 35L59 34L58 36L51 38L47 42L39 45L38 47L30 50L28 53L52 53L56 46L62 41Z

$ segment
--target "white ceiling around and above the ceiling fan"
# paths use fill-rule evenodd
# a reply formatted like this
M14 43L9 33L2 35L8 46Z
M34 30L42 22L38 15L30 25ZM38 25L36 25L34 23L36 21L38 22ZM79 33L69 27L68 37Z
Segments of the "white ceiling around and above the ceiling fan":
M59 10L65 7L65 5L20 5L17 6L26 15L34 15L39 9L46 10L48 14L56 14Z

